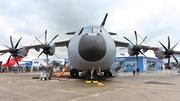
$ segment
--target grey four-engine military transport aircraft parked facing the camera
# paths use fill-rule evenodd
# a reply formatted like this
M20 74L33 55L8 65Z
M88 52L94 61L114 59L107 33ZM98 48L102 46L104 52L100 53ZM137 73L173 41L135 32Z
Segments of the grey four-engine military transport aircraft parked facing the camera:
M65 41L51 43L57 37L56 35L50 43L45 42L45 44L41 43L40 45L25 46L17 49L19 41L14 47L12 39L10 38L12 48L6 46L9 49L0 50L0 53L4 54L6 52L10 52L10 56L25 57L27 56L29 49L34 48L39 50L42 48L43 51L40 55L44 53L48 56L55 53L55 47L66 46L68 48L70 65L72 66L70 71L71 76L79 76L79 71L85 71L84 73L86 75L86 79L96 79L97 75L102 75L101 72L104 73L104 76L111 76L112 73L114 73L112 68L116 56L116 47L127 47L130 56L137 56L139 53L143 54L143 52L146 52L147 50L154 50L154 53L158 58L169 58L171 55L173 56L174 53L180 54L179 51L173 50L176 45L170 49L170 41L168 42L168 48L161 43L161 45L165 48L165 51L163 51L162 48L144 46L138 44L138 42L133 44L126 37L124 38L130 43L113 40L111 35L116 35L116 33L108 32L104 28L107 16L108 14L105 15L100 25L86 26L76 32L66 33L67 35L73 35L73 37ZM135 36L137 41L136 32ZM141 49L143 49L143 52Z

